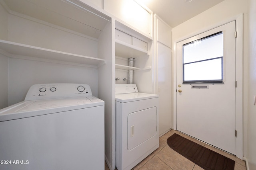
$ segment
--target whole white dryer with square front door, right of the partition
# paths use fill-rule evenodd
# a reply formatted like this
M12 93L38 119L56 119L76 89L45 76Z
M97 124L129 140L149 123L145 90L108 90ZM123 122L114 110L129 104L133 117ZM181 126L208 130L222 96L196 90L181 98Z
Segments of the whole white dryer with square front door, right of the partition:
M130 170L159 147L158 98L116 84L116 168Z

